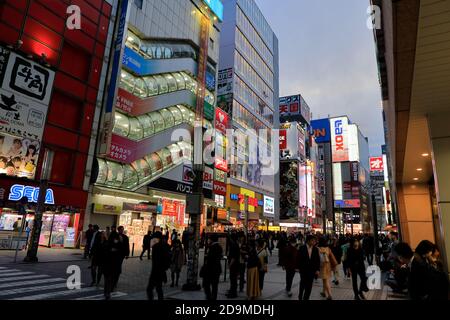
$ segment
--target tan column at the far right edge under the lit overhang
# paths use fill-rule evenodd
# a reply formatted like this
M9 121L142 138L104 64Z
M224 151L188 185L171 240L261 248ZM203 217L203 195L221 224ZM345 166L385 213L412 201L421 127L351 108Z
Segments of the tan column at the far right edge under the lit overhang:
M436 189L435 225L436 238L441 247L442 258L447 271L450 262L450 112L440 112L428 116L428 126L432 147L434 183Z

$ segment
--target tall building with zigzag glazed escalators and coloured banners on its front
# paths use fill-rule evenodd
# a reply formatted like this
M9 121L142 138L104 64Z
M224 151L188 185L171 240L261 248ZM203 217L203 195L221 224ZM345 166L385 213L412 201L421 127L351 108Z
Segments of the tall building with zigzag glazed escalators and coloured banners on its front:
M140 247L149 228L186 227L193 127L199 121L210 130L225 121L215 110L223 6L219 0L120 0L117 8L89 221L123 225ZM203 228L217 207L213 166L204 169Z

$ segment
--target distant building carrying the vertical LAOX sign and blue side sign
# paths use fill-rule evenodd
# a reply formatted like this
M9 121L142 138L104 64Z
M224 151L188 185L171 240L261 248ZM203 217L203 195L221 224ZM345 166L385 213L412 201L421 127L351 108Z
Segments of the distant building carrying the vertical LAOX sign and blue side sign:
M368 139L347 116L313 120L312 128L316 142L322 145L325 177L332 179L331 183L327 178L320 182L327 199L327 218L333 215L336 232L371 232Z

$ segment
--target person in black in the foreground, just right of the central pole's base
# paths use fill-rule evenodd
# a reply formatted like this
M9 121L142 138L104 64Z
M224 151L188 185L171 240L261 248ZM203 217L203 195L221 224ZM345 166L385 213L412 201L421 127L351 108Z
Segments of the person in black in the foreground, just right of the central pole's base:
M218 242L216 234L212 234L208 239L208 253L205 259L203 288L205 289L206 300L217 300L217 290L219 287L219 278L222 273L220 261L223 257L223 250Z

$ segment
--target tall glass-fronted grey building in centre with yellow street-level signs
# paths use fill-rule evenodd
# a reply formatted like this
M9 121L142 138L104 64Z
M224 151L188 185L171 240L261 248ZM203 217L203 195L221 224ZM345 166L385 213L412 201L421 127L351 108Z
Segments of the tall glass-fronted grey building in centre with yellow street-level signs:
M225 0L220 41L218 107L230 116L226 207L233 224L276 222L278 173L278 40L252 0ZM256 130L250 132L249 130ZM258 141L265 131L267 141ZM255 142L255 143L253 143ZM245 207L245 198L251 204ZM248 216L245 216L245 214Z

